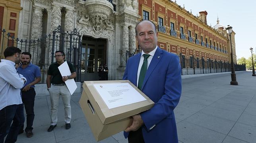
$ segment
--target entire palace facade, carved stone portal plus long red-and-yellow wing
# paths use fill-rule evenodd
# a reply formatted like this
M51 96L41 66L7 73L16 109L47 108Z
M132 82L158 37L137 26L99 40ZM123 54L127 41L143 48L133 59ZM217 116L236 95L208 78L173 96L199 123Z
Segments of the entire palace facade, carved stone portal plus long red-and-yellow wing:
M1 27L19 40L42 39L52 34L59 25L65 32L76 28L81 35L81 81L97 80L100 64L108 64L109 79L122 79L128 56L140 50L135 39L135 26L143 19L156 24L159 33L157 45L179 55L183 61L182 68L191 68L191 64L184 62L185 59L191 60L191 57L230 63L231 48L225 26L219 21L215 26L209 26L206 16L206 11L201 11L198 17L194 16L171 0L0 2ZM231 41L236 62L235 32L232 33ZM37 46L37 52L30 52L33 57L39 57L45 60L43 63L47 63L52 56L50 44L46 44L49 49L43 49L40 45ZM57 42L57 45L60 43ZM40 58L42 55L43 58Z

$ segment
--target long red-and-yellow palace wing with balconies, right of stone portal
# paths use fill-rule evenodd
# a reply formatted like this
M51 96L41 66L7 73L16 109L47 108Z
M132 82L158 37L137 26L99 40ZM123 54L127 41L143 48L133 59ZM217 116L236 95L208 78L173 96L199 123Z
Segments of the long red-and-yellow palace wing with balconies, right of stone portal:
M171 0L139 0L140 20L153 21L158 29L158 46L181 56L181 60L196 59L231 62L229 35L225 26L207 24L207 12L199 16L182 8ZM234 62L235 32L231 34ZM183 68L190 65L184 61Z

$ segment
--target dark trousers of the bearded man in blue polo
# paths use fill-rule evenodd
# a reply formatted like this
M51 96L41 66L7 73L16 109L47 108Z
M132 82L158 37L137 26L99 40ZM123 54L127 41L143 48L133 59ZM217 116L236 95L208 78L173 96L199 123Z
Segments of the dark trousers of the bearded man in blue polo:
M35 103L35 89L30 88L28 91L21 92L22 102L24 103L26 114L27 114L27 127L25 131L33 130L33 121L35 118L34 114L34 103ZM23 130L24 124L21 126Z

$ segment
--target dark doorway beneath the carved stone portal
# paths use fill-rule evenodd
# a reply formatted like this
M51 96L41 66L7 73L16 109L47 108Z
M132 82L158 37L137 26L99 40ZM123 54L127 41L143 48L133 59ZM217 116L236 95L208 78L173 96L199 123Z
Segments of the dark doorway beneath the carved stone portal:
M107 40L83 36L81 46L81 82L99 80L98 68L106 64Z

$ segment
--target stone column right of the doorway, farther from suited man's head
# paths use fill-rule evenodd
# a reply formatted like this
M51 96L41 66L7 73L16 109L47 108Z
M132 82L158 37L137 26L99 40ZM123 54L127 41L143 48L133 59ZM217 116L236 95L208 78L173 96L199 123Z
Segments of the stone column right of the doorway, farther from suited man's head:
M121 67L126 66L126 51L129 50L129 29L126 24L122 26L123 28L123 46L120 50L121 54Z

